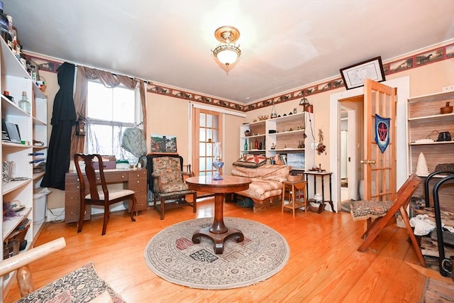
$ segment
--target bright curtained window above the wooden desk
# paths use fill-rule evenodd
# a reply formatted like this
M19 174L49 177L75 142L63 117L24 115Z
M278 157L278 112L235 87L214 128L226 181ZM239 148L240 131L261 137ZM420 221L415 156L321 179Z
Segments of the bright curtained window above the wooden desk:
M104 87L101 82L88 82L87 153L115 155L127 159L121 148L123 131L140 121L140 101L135 90L118 86Z

